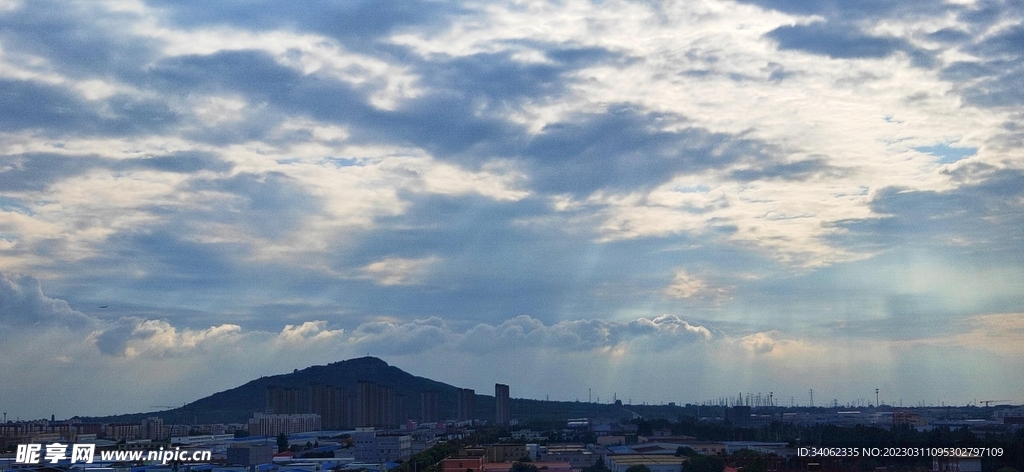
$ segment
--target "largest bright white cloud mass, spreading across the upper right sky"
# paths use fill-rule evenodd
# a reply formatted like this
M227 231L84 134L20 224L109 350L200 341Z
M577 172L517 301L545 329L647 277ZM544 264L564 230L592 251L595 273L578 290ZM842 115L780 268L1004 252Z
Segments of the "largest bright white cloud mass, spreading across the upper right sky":
M1010 116L964 106L956 86L938 70L911 65L900 54L836 59L778 50L765 37L778 27L819 17L730 2L488 2L469 7L473 13L446 31L407 32L392 41L427 58L515 51L513 57L537 61L552 47L598 47L636 58L579 70L567 81L566 93L514 110L513 120L537 133L568 123L574 115L629 103L663 114L663 131L698 127L739 134L773 146L769 159L777 164L813 159L833 168L797 180L737 182L730 174L749 170L749 164L739 164L677 176L651 191L598 192L587 202L604 216L595 228L601 241L734 225L737 230L728 241L790 265L858 260L873 254L850 251L829 239L842 234L836 222L881 216L869 208L876 189L955 185L943 166L914 146L958 141L981 147L975 162L1004 166L1013 161L982 145L1001 132ZM934 30L955 23L948 15L936 20L889 18L879 33L905 36L925 24ZM690 181L711 188L685 195L674 189Z

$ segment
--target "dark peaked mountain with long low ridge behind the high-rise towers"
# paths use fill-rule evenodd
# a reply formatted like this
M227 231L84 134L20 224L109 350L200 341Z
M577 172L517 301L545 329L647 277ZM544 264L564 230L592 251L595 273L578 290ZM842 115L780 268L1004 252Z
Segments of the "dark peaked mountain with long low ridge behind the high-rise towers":
M164 424L209 424L246 423L253 413L262 412L266 406L267 387L305 389L313 384L345 388L355 393L357 382L372 382L390 387L396 397L403 401L408 416L416 418L420 413L420 394L425 391L438 393L442 418L454 418L459 387L409 374L394 366L388 366L377 357L357 357L327 366L313 366L295 370L291 374L260 377L229 390L214 393L205 398L187 403L179 409L163 412L119 415L104 418L79 418L82 421L120 422L139 421L148 417L159 417ZM474 398L475 418L493 420L495 397L477 394ZM668 410L666 410L668 409ZM513 418L522 420L560 421L566 418L603 417L630 418L637 412L645 417L675 419L682 414L679 406L645 406L590 403L580 401L545 401L512 398L510 410ZM653 415L652 415L653 414Z

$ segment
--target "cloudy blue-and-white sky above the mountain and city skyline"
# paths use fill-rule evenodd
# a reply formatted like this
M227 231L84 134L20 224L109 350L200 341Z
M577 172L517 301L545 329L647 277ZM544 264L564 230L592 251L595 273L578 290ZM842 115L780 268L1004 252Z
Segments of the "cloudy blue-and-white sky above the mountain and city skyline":
M9 419L1024 403L1022 228L1019 0L0 0Z

